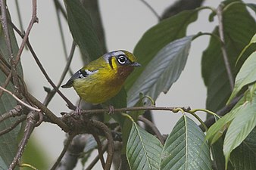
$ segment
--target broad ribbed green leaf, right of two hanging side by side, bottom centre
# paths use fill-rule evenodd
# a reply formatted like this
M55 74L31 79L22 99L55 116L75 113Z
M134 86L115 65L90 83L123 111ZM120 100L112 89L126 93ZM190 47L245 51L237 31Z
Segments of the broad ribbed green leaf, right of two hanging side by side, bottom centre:
M192 119L183 116L164 144L161 169L211 170L211 156L204 133Z

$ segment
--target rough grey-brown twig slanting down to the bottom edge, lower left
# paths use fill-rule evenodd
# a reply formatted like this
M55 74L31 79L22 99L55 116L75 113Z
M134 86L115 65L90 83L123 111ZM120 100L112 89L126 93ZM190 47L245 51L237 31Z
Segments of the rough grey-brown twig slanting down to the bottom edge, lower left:
M13 170L17 163L20 162L20 158L23 155L23 151L27 145L27 142L30 138L30 135L32 134L33 129L35 128L36 125L36 113L35 112L30 112L27 115L27 123L24 131L24 135L22 140L20 141L16 156L14 157L14 160L11 162L11 165L9 166L8 170Z

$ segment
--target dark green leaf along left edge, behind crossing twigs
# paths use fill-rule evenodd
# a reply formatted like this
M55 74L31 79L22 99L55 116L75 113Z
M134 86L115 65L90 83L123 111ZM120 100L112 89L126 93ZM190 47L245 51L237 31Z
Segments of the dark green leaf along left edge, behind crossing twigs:
M8 20L11 20L10 15L8 14ZM18 51L18 45L16 38L14 36L14 31L11 29L11 25L8 24L8 32L11 39L11 46L12 51L14 53L14 57L16 57L17 51ZM8 52L8 46L5 42L5 35L3 32L3 29L0 31L0 55L5 58L5 60L9 63L10 60L10 54ZM23 77L22 68L20 63L17 65L17 73L20 77ZM6 80L5 73L3 73L0 70L0 85L4 85ZM14 86L9 82L8 91L14 91ZM11 97L10 94L2 94L2 97L0 98L0 115L8 112L9 110L13 109L17 105L17 101L14 99L14 97ZM17 118L10 118L6 119L4 122L0 123L0 129L3 130L5 128L9 128L11 125L14 124L14 122L17 121ZM4 134L0 137L0 167L9 167L11 164L14 156L17 153L17 136L20 132L21 125L17 125L14 130L8 132L7 134ZM6 169L6 168L4 168Z

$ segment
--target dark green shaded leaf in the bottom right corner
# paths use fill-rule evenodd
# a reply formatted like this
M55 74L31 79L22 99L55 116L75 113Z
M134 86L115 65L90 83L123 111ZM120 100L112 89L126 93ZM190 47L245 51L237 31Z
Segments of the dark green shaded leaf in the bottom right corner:
M256 128L248 134L245 141L230 155L230 162L237 170L256 169ZM229 168L229 167L228 167Z

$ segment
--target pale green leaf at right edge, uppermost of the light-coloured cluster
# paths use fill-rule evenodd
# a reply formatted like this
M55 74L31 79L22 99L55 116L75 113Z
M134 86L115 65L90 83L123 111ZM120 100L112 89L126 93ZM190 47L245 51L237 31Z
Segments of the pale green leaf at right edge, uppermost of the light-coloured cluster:
M256 36L255 36L256 37ZM256 51L252 53L242 65L236 76L235 87L229 97L229 102L236 97L236 94L245 86L256 81Z

